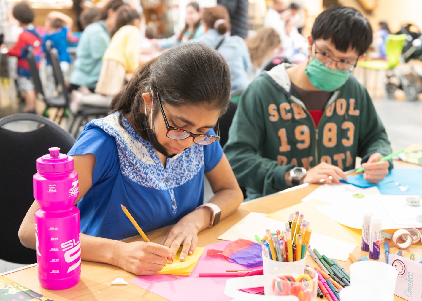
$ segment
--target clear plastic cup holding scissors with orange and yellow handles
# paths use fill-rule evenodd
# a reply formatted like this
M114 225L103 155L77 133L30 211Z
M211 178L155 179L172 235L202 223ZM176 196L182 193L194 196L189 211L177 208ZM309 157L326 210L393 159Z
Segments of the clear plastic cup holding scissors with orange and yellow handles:
M309 267L300 273L286 272L285 267L275 268L271 281L272 296L295 296L298 300L316 301L318 274Z

